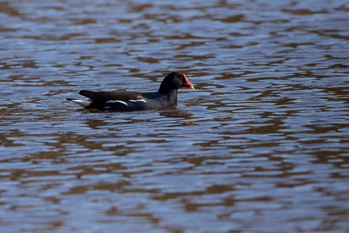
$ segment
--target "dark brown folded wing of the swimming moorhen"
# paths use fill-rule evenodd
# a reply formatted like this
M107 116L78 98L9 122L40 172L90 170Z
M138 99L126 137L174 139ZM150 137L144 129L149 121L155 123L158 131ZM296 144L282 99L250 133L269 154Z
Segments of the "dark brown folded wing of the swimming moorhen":
M81 90L79 94L100 103L105 103L109 100L146 100L140 92L94 92L92 90Z

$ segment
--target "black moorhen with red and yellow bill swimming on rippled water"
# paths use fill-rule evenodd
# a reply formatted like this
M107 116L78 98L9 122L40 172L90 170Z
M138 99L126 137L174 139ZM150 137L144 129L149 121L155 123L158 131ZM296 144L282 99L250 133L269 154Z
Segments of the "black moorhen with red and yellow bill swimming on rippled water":
M154 110L170 107L177 103L177 89L187 87L194 90L193 85L180 72L168 74L160 84L157 92L94 92L81 90L80 95L89 99L67 98L84 108L103 110Z

